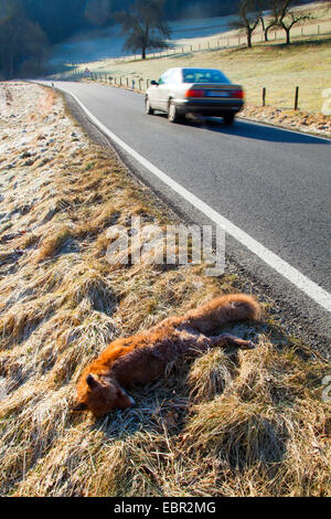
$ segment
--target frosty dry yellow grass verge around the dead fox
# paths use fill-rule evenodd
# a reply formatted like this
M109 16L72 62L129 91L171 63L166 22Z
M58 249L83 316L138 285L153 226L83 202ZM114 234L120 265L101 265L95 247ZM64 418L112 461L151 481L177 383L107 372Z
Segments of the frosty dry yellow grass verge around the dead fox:
M83 136L86 146L72 153L73 123L61 126L64 107L54 103L43 131L60 125L63 158L47 176L18 163L17 180L30 189L38 181L39 199L0 234L1 495L330 495L328 364L265 324L229 328L255 350L180 360L164 380L132 391L132 410L98 422L71 412L79 373L111 339L241 286L205 277L202 266L110 266L109 225L129 226L137 212L160 223L169 215L114 153Z

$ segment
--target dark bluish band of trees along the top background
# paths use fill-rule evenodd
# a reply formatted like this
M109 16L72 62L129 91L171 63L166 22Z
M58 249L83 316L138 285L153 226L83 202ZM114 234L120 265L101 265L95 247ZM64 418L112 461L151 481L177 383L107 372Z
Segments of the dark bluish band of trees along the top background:
M126 49L139 51L146 57L148 49L167 46L170 20L238 12L237 27L246 31L249 40L256 23L252 10L259 13L258 20L263 23L263 10L275 4L277 23L287 23L287 17L281 14L279 6L288 0L264 0L263 8L257 4L258 1L0 0L0 77L10 78L19 73L39 74L49 45L92 27L108 27L119 22L126 35ZM268 30L269 23L266 34Z

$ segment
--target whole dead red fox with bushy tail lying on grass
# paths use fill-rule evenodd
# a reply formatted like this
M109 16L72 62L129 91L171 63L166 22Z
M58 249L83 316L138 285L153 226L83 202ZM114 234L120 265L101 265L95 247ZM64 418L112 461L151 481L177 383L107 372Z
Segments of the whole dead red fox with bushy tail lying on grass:
M209 337L223 325L260 318L259 304L245 294L217 297L183 316L170 317L149 330L117 339L82 373L75 411L103 416L135 402L124 388L145 384L164 374L179 354L197 356L217 346L253 348L250 341L229 335Z

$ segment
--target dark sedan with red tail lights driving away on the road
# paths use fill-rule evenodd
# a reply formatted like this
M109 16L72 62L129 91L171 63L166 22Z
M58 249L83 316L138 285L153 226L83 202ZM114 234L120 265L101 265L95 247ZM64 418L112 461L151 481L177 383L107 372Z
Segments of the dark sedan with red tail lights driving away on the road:
M166 112L171 123L199 114L231 125L244 106L244 91L216 68L170 68L151 82L145 103L147 114Z

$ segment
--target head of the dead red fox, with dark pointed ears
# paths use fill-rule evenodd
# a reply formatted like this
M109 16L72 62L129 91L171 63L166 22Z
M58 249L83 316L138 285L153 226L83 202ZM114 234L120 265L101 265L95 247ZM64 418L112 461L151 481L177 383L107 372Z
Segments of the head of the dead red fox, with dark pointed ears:
M77 388L78 403L73 411L92 411L103 416L113 409L131 407L135 404L125 390L114 379L103 374L89 373Z

